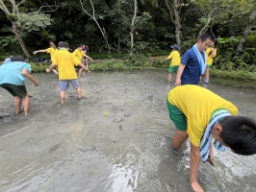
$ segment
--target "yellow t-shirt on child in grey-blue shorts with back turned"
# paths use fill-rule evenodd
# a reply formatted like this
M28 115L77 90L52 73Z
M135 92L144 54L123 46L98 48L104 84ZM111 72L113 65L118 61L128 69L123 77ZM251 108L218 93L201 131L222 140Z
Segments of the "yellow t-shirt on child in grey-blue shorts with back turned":
M77 79L74 65L77 66L81 61L77 60L76 57L66 49L61 49L56 53L52 62L58 66L59 80Z

